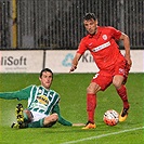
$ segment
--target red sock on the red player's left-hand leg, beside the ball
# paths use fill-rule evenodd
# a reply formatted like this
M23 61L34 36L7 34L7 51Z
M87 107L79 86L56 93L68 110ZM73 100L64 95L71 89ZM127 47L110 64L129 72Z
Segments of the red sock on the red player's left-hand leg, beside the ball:
M94 113L96 107L96 95L95 94L87 94L87 113L88 113L88 121L94 123Z

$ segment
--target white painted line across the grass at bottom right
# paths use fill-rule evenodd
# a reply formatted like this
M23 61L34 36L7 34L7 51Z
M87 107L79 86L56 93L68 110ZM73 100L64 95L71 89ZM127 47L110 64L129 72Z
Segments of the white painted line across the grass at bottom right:
M101 135L97 135L97 136L91 136L91 138L80 139L80 140L76 140L76 141L69 141L69 142L65 142L65 143L62 143L62 144L74 144L74 143L94 140L94 139L96 140L96 139L106 138L106 136L109 136L109 135L117 135L117 134L120 134L120 133L136 131L136 130L141 130L141 129L144 129L144 127L133 128L133 129L129 129L129 130L112 132L112 133L106 133L106 134L101 134Z

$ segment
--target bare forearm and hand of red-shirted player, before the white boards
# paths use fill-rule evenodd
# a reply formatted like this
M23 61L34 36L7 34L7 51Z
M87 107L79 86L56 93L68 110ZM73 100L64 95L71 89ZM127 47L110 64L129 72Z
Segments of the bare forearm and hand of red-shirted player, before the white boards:
M77 65L78 65L78 62L79 62L80 57L81 57L81 54L80 53L76 53L76 55L75 55L75 57L74 57L74 60L71 62L71 68L69 70L69 73L74 71L77 68Z

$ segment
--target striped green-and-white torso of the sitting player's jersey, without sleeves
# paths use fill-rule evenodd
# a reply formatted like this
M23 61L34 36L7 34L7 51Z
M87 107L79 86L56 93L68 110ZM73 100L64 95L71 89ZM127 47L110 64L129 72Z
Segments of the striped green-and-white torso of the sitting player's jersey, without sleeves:
M28 97L28 109L50 115L58 101L60 96L55 91L32 86Z

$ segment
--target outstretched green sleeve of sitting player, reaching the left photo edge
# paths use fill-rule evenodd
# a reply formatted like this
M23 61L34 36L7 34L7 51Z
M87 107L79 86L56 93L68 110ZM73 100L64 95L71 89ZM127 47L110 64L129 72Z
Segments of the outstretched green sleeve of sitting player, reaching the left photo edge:
M31 87L27 87L25 89L14 91L14 92L0 92L0 99L5 99L5 100L27 100L29 96L29 91Z

